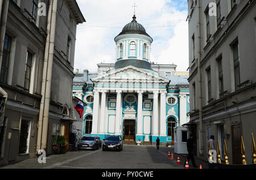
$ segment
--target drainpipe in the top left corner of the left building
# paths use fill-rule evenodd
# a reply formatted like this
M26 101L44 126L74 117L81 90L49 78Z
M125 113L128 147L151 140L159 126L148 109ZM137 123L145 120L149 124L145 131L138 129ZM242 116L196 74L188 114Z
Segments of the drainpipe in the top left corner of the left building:
M3 4L3 6L2 6ZM5 44L5 30L6 30L6 22L7 22L7 15L8 15L8 8L9 8L9 1L1 1L1 31L0 31L0 67L2 67L2 59L3 59L3 45ZM1 72L1 68L0 68Z

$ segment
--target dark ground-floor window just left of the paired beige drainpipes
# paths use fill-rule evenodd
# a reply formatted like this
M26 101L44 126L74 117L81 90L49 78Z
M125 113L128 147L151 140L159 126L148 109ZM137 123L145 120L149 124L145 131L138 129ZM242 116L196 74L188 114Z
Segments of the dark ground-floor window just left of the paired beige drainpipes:
M20 125L19 154L28 153L30 121L23 120Z

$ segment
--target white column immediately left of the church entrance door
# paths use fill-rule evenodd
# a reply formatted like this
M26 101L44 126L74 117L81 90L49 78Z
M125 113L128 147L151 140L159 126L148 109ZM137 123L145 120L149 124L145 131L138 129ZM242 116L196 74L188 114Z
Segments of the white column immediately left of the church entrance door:
M121 95L122 91L117 92L117 108L115 110L115 135L121 135Z

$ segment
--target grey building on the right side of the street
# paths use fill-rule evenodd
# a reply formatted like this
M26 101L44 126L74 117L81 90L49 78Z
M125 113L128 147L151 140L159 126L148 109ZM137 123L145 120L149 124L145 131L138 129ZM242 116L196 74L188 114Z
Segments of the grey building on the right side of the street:
M187 20L189 126L196 135L196 154L208 158L207 142L214 135L221 160L225 139L230 164L242 164L243 136L251 164L251 134L256 135L256 2L189 0Z

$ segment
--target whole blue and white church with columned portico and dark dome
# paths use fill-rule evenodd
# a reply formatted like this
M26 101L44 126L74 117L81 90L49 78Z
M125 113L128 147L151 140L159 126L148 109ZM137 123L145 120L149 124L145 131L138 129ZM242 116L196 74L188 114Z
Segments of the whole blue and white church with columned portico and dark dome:
M135 19L114 38L115 63L75 73L73 95L87 104L83 134L171 143L173 128L189 121L188 76L176 75L176 65L151 63L153 40Z

